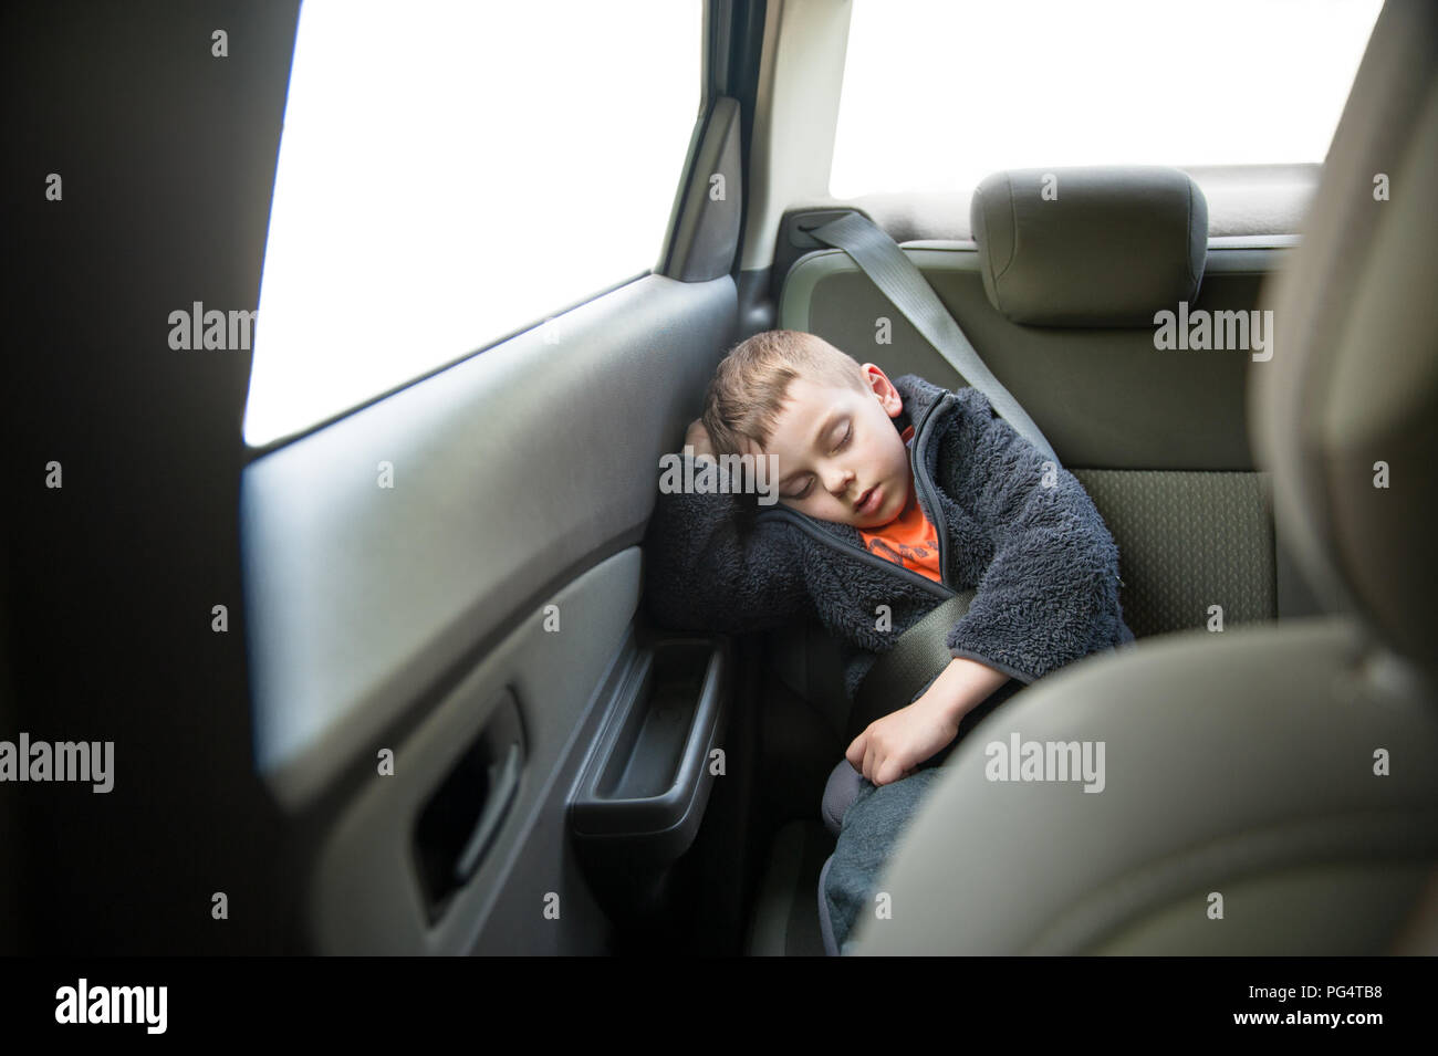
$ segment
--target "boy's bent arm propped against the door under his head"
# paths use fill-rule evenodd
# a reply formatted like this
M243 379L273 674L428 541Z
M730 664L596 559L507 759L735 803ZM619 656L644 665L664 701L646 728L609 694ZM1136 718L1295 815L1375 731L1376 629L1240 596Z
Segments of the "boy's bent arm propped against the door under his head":
M696 458L709 453L699 422L684 443ZM644 595L656 624L745 634L810 613L792 529L752 523L754 504L754 496L660 488L644 540Z

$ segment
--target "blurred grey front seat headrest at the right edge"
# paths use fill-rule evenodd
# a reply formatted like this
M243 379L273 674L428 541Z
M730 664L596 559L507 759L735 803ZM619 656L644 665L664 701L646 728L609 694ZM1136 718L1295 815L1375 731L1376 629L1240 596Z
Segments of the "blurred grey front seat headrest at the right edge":
M1392 70L1403 70L1395 76ZM1389 3L1303 243L1271 287L1250 418L1314 589L1438 682L1438 9Z

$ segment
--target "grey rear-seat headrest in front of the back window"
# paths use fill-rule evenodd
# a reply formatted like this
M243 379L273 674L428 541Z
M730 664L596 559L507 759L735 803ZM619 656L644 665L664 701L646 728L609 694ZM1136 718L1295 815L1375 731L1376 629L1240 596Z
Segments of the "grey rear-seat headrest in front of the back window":
M1031 326L1153 326L1198 297L1208 257L1208 203L1176 168L995 172L969 223L989 302Z

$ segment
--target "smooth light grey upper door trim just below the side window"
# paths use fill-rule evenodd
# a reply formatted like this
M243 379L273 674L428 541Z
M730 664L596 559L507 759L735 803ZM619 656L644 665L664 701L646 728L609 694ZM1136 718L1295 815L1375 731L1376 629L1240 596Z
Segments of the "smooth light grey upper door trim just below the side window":
M255 751L282 806L638 542L736 312L728 276L647 276L246 467Z

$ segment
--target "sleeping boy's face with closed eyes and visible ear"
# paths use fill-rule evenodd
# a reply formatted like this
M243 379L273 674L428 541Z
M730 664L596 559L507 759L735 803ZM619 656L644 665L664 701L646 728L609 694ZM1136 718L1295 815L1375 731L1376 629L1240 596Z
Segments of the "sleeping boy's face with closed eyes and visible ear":
M764 454L778 463L779 501L820 520L874 529L909 501L909 451L893 418L903 398L874 363L869 392L795 378Z

